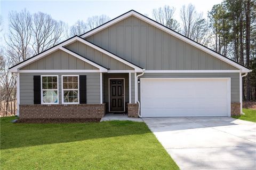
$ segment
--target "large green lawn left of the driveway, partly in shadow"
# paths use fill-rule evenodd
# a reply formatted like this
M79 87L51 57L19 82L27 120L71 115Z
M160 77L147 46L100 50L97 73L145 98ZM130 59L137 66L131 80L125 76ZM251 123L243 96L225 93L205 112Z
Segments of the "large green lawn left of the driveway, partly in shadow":
M13 124L13 119L1 118L0 169L179 169L145 123Z

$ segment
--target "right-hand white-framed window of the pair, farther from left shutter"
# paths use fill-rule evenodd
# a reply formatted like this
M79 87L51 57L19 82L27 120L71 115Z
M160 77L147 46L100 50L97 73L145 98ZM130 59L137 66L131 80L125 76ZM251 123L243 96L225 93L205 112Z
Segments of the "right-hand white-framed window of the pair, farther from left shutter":
M78 76L62 76L62 103L79 103L79 82Z

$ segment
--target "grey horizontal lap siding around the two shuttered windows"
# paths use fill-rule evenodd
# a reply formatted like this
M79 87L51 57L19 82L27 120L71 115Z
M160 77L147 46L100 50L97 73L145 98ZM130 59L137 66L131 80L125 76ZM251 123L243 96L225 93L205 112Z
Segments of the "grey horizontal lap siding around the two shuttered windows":
M20 104L34 104L33 76L59 75L59 104L62 101L61 75L86 75L86 93L88 104L100 103L100 73L20 73Z

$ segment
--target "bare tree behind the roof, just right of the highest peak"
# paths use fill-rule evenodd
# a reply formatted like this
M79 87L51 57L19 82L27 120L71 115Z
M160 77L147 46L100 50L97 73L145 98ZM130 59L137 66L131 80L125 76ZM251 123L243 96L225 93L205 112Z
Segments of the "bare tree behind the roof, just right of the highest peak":
M165 5L163 8L159 7L158 9L153 10L154 19L161 23L162 25L175 30L180 31L180 24L177 20L173 19L173 14L175 12L174 7Z

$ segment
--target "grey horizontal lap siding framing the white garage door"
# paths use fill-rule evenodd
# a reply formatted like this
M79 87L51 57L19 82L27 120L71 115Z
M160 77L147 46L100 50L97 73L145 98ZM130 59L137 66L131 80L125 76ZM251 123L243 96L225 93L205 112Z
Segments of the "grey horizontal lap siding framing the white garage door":
M239 101L239 73L145 73L140 78L231 78L231 102ZM138 99L140 101L140 84L138 84Z

